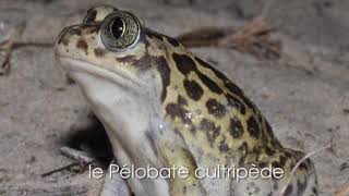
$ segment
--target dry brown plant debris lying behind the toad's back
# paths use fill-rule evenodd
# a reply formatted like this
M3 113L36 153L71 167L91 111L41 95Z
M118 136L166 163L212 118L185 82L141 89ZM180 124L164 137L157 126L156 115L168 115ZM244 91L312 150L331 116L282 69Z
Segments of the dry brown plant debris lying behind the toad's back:
M186 47L233 48L257 59L278 59L281 57L281 44L270 39L273 32L275 29L262 17L256 17L240 29L204 27L182 34L177 39Z

